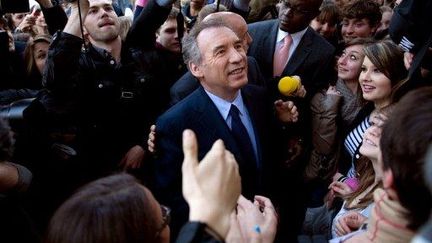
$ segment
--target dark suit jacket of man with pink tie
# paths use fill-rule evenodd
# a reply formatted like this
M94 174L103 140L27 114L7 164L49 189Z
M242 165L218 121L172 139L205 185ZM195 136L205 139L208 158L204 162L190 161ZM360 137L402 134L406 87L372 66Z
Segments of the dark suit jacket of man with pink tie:
M255 57L267 86L277 91L279 78L273 79L273 56L279 20L267 20L249 24L249 33L253 41L248 55ZM329 83L336 80L334 71L335 48L310 27L301 39L281 76L299 75L308 97ZM276 90L275 90L276 89Z

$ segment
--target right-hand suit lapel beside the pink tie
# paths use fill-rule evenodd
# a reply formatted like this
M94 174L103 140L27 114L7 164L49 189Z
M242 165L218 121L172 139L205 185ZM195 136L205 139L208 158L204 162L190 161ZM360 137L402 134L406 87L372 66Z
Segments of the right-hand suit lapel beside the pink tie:
M282 76L295 74L298 67L306 60L309 53L312 51L313 36L311 35L311 31L312 30L308 27L295 52L291 56L291 59L285 66Z

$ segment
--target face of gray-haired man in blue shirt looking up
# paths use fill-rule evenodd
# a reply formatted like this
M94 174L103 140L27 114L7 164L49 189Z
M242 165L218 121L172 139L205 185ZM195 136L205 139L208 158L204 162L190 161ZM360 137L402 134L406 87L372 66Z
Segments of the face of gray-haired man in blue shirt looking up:
M209 92L233 99L247 80L246 52L242 41L227 27L208 28L197 37L201 63L190 70Z

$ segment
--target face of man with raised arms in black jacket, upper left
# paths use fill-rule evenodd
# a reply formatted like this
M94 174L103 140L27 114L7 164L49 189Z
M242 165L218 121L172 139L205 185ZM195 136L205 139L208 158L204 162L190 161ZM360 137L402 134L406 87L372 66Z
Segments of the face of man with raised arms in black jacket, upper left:
M91 0L84 20L90 41L110 42L119 37L120 22L111 1Z

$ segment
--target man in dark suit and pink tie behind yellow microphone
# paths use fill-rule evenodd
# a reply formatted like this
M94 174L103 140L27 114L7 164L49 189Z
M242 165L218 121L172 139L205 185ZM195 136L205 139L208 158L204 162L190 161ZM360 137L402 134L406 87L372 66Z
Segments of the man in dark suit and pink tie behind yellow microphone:
M249 25L253 42L248 55L255 57L261 72L272 88L277 87L278 78L298 75L307 93L313 94L325 86L334 76L335 48L309 27L319 14L322 0L282 0L278 4L279 19ZM292 37L289 57L281 74L274 75L275 49L287 34Z

